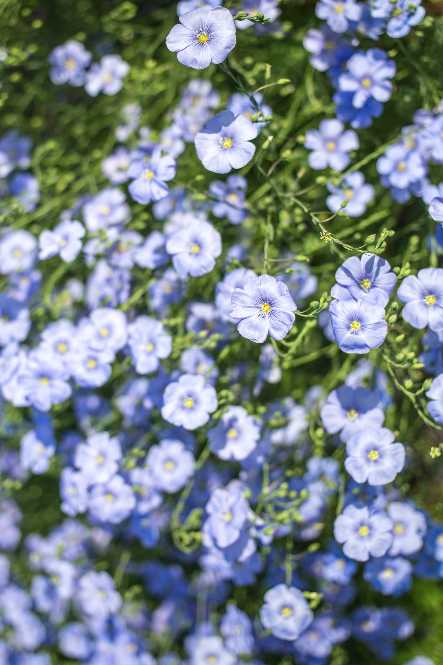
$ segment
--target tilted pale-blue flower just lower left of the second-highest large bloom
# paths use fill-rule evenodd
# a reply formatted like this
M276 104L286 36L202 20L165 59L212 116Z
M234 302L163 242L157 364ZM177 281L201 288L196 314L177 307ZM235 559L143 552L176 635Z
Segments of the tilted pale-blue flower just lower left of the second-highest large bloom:
M128 192L137 203L159 201L169 194L165 182L175 177L175 159L172 155L161 156L161 150L155 149L150 157L136 160L128 169L128 177L133 182Z

